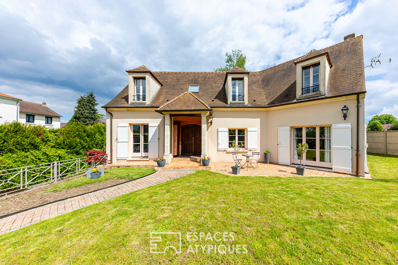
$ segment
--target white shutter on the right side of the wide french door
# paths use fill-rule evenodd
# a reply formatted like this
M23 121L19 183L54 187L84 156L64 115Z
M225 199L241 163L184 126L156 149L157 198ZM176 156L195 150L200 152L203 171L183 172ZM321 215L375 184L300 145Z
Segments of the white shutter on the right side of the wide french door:
M351 123L332 124L332 168L351 173Z

